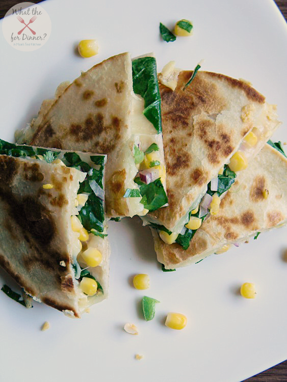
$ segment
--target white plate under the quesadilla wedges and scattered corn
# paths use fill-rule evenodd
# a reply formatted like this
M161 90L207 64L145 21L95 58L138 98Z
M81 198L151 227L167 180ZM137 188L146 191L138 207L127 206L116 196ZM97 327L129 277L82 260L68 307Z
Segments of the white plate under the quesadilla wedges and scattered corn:
M204 70L251 80L287 121L287 28L271 0L48 0L41 6L52 30L40 49L15 50L0 33L3 139L13 141L15 129L37 114L61 81L127 50L134 57L154 51L159 70L170 60L193 69L204 58ZM160 21L171 27L181 18L194 22L194 35L161 41ZM93 37L98 56L75 56L76 42ZM274 139L287 141L284 124ZM81 320L37 303L24 309L0 293L2 381L233 382L287 359L285 228L168 273L161 271L149 229L138 219L112 222L109 238L110 297ZM149 290L131 287L138 272L150 275ZM252 301L237 294L246 281L257 287ZM15 286L1 270L2 283ZM153 321L140 313L144 294L161 301ZM187 315L184 331L163 325L170 311ZM47 332L40 331L44 321L50 322ZM123 332L126 322L135 323L140 334ZM135 360L136 353L144 359Z

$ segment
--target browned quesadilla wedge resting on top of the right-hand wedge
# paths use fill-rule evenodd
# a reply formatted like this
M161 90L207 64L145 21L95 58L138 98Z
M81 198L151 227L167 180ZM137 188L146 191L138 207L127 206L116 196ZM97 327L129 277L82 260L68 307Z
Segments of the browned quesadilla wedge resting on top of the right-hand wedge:
M169 206L143 220L165 242L187 249L204 217L217 213L237 174L280 123L276 106L243 81L204 71L195 76L166 71L160 81L171 86L175 80L169 79L176 78L173 91L160 83Z

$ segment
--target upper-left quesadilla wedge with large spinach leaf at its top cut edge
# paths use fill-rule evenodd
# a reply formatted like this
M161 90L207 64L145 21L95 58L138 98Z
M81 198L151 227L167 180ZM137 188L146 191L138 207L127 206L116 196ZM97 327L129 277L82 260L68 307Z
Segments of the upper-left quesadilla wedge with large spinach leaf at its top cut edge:
M18 143L108 154L109 217L167 205L161 98L154 57L118 54L58 87Z

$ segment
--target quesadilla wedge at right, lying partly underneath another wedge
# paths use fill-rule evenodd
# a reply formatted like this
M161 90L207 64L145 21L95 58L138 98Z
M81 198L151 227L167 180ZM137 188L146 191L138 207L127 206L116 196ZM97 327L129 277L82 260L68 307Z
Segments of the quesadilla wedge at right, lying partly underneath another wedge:
M152 229L159 262L166 269L197 263L213 253L226 252L231 244L238 247L261 232L286 225L286 173L286 156L266 144L248 171L238 175L218 214L208 217L196 231L186 251L177 243L164 243Z

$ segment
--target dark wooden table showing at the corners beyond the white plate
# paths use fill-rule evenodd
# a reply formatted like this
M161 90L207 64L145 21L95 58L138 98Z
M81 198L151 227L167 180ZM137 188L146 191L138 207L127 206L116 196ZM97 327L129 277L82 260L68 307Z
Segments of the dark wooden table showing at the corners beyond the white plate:
M6 12L15 4L22 0L0 0L0 18L4 17ZM40 3L42 0L31 0L33 3ZM250 0L252 1L252 0ZM285 20L287 20L287 0L275 0ZM286 47L284 47L286 48ZM286 344L287 346L287 344ZM272 367L251 378L245 379L245 382L287 382L287 361Z

